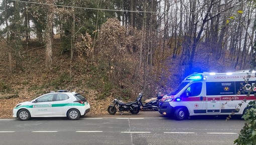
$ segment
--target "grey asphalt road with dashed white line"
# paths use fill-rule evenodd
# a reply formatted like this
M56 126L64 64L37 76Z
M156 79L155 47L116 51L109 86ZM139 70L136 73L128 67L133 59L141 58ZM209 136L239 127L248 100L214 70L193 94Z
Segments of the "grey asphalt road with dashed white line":
M233 144L244 121L239 116L196 116L177 121L157 111L134 115L85 115L79 120L0 119L0 144Z

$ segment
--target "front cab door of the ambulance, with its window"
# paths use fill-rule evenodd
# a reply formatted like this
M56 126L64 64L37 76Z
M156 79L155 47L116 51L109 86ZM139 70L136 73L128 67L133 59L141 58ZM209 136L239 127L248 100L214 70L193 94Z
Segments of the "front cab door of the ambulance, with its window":
M202 91L203 83L205 82L193 82L184 91L186 97L183 95L183 101L189 105L188 108L191 115L206 113L205 97L203 97L205 91Z

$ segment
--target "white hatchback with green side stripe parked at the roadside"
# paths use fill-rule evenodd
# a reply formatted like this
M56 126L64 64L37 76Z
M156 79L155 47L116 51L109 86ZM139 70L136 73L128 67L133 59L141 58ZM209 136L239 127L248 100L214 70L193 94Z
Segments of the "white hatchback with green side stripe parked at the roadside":
M79 93L60 90L41 95L32 101L21 102L13 109L13 117L63 117L78 119L90 111L90 104Z

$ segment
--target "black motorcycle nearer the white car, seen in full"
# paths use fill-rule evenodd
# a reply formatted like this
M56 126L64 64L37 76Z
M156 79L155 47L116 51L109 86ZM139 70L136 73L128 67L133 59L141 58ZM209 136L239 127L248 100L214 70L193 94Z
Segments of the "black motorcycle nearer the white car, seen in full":
M110 104L107 107L107 111L109 114L113 115L116 113L116 111L121 112L121 114L124 111L131 112L132 114L138 114L141 109L141 97L139 96L136 101L124 103L121 101L121 98L115 98L112 101L112 104ZM117 107L117 109L116 109Z

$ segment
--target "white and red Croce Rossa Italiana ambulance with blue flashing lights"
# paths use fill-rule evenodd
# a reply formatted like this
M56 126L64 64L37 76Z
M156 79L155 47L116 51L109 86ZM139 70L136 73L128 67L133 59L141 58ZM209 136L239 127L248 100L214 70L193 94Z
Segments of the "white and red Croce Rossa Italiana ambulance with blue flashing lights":
M256 91L255 72L249 78L248 74L249 70L191 74L163 96L159 112L177 120L193 115L229 115L233 111L242 115L248 108L248 102L256 99L253 93L246 96L249 91Z

